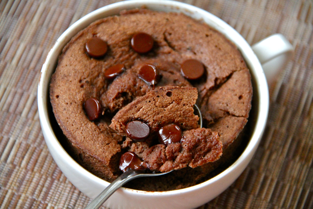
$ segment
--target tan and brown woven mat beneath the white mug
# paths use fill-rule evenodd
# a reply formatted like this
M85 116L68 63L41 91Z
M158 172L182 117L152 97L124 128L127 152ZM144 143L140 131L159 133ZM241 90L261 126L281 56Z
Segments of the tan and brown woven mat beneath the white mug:
M89 198L54 163L41 131L37 85L69 25L118 0L0 2L0 208L84 208ZM313 208L313 1L182 0L249 44L284 34L295 56L271 88L266 134L239 179L201 209ZM196 198L196 197L193 197Z

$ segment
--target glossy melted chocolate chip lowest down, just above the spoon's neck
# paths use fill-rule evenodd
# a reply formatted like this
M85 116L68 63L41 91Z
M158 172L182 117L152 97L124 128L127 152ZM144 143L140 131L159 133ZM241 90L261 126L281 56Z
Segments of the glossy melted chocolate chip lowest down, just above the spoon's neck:
M143 162L134 152L125 152L119 161L119 169L125 172L128 168L137 171L144 171L146 168L143 166Z

